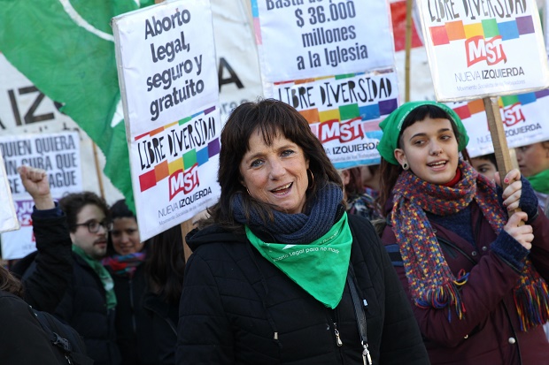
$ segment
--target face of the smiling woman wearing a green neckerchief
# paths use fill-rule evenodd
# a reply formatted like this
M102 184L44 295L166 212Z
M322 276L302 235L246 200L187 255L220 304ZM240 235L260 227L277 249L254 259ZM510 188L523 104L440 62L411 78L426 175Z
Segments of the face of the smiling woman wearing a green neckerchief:
M250 150L240 162L242 185L260 202L286 213L301 213L309 185L309 160L303 149L282 133L267 146L259 131L251 133Z

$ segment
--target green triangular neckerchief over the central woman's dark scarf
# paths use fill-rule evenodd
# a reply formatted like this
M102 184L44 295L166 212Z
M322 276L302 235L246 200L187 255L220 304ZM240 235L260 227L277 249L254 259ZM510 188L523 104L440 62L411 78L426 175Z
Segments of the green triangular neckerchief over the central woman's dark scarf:
M347 214L320 239L304 245L266 243L246 225L246 236L267 261L329 308L336 308L344 291L352 234Z

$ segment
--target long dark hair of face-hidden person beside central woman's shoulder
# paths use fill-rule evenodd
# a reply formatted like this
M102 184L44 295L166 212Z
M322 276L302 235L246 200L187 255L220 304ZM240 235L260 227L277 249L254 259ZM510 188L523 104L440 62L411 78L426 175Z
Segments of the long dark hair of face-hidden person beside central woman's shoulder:
M176 305L182 294L184 270L182 229L178 224L149 240L145 272L151 291Z

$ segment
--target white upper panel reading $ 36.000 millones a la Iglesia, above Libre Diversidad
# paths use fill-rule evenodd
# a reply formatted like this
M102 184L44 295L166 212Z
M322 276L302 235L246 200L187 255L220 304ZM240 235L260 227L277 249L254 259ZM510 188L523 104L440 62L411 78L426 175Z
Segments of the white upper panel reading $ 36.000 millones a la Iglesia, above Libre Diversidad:
M251 11L267 82L394 64L384 0L251 0Z

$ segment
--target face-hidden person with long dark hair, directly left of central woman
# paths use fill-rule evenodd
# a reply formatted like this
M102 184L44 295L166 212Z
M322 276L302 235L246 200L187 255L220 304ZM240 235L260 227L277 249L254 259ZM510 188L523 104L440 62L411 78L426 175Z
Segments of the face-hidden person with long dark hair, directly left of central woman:
M179 302L185 257L181 226L175 225L151 238L145 261L148 291L143 308L152 317L153 346L159 365L175 364Z

